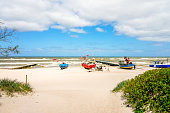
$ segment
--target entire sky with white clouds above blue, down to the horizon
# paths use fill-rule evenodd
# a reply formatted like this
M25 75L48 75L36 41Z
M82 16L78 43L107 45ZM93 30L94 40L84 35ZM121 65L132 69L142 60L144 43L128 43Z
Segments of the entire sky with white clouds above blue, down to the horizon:
M0 3L0 20L17 30L16 56L170 56L168 4L169 0L6 0Z

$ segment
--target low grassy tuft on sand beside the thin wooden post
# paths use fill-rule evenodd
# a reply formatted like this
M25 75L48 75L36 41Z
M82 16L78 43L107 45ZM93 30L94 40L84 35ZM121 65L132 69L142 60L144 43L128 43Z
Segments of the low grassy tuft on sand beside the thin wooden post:
M0 80L0 90L11 97L14 96L15 93L25 95L33 91L29 84L6 78Z

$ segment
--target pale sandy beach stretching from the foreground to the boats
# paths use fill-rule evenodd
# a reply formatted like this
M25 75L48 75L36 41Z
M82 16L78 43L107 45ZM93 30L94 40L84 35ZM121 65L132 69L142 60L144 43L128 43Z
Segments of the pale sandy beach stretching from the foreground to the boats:
M0 78L28 82L34 88L30 95L0 97L0 113L131 113L123 105L121 93L111 90L149 67L123 70L110 67L103 72L88 72L81 66L35 69L0 69Z

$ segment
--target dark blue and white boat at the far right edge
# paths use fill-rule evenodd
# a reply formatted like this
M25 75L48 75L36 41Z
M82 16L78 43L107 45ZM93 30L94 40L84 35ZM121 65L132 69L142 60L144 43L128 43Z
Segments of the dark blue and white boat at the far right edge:
M164 64L163 61L153 61L153 64L149 65L149 67L170 68L170 64Z

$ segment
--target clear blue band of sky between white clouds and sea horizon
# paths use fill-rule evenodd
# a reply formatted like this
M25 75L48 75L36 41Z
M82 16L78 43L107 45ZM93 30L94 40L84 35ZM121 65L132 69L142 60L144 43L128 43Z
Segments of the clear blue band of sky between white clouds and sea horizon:
M99 27L104 32L96 31ZM140 41L118 34L109 25L85 27L84 31L74 33L50 28L17 32L19 56L169 56L168 43Z

